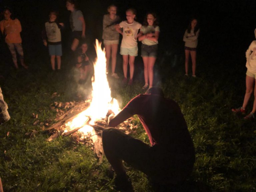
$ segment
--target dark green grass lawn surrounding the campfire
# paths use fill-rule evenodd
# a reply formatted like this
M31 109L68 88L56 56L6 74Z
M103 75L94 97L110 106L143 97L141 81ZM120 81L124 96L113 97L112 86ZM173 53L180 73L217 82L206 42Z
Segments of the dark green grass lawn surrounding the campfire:
M245 121L232 114L231 108L242 104L245 91L244 63L232 69L225 63L233 60L198 56L198 77L184 77L183 55L178 55L177 65L171 67L173 57L164 52L155 66L156 84L163 88L166 97L175 100L186 119L194 142L196 162L193 173L184 184L186 191L253 192L256 191L256 132L255 122ZM32 56L30 57L32 58ZM138 58L140 60L140 58ZM46 141L49 135L33 126L34 114L40 122L54 122L54 102L78 101L67 58L63 70L50 71L46 58L30 59L28 71L14 71L1 62L0 85L8 103L11 120L0 126L0 176L4 191L115 191L113 180L106 172L106 158L102 163L90 146L77 144L71 137ZM140 61L141 62L141 61ZM121 63L119 63L121 66ZM119 70L119 74L122 73ZM113 96L123 107L131 98L143 93L142 76L132 87L121 88L111 81ZM236 79L234 74L243 77ZM121 80L120 80L121 81ZM57 92L59 97L52 98ZM248 111L252 107L252 100ZM149 143L138 119L134 137ZM27 135L26 133L35 134ZM144 174L127 167L134 190L151 192Z

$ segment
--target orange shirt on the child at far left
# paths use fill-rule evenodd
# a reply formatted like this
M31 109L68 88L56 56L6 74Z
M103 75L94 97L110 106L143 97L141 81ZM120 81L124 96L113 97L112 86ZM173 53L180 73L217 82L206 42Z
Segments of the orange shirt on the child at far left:
M0 21L0 29L2 34L6 35L6 43L21 43L21 25L18 19L3 19L2 21Z

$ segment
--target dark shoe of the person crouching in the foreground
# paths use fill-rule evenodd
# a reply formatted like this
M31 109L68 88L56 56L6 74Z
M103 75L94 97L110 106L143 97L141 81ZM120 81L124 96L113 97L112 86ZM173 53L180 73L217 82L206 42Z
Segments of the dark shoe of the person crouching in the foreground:
M122 177L115 177L114 179L115 183L115 190L121 191L121 192L134 192L132 187L131 179L124 175Z

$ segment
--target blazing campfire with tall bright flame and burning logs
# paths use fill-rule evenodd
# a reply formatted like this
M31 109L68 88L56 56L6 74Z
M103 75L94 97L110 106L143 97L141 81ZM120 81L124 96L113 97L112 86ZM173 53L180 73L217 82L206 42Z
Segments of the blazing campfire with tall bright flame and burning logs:
M101 157L103 151L100 133L108 127L108 115L111 112L117 114L120 108L117 100L111 97L106 75L105 49L101 49L101 43L97 39L95 49L97 60L94 63L94 76L92 77L92 99L73 104L70 110L56 118L57 123L46 130L54 130L48 141L52 141L59 136L66 137L71 134L73 136L76 135L79 141L90 138L93 142L94 152L98 157ZM62 104L58 103L56 105L62 106ZM133 129L137 128L137 126L132 125L131 120L128 119L122 123L119 129L123 129L127 134L134 131Z

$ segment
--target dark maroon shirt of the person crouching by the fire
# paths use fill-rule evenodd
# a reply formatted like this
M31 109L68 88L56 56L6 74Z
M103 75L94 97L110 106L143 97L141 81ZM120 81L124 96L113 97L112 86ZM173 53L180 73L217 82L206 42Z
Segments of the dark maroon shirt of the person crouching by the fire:
M193 142L178 104L159 95L140 94L123 110L138 115L151 145L159 144L170 152L193 150Z

